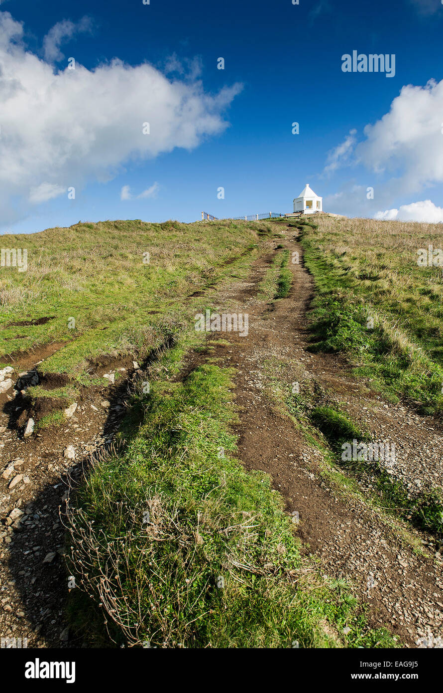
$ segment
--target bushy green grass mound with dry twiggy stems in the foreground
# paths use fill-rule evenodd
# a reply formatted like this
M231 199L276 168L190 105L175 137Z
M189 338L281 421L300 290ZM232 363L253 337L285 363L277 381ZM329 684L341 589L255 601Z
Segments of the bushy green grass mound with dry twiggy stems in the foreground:
M170 351L170 374L182 353ZM71 516L70 570L101 604L93 639L101 609L129 645L396 647L368 628L347 586L309 570L270 477L235 458L231 377L203 365L156 381L134 401L144 419L123 431L124 453L91 469ZM90 600L75 597L73 625L88 614Z

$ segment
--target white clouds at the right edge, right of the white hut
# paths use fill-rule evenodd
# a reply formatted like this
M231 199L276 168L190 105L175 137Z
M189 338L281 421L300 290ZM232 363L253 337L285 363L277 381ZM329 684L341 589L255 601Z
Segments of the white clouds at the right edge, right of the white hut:
M388 207L395 198L417 195L442 184L443 80L429 80L424 87L403 87L392 100L389 112L373 125L366 125L363 134L365 139L358 142L356 131L351 130L343 143L329 152L323 173L334 173L343 166L364 166L371 173L367 184L374 187L379 209L382 205ZM352 213L368 213L371 206L364 199L365 189L366 186L350 182L337 196L334 209L343 196ZM440 221L439 209L431 200L422 200L379 211L377 215L382 216L377 218L409 215L408 218L417 220L417 215L421 215L423 221ZM395 214L399 216L392 216Z

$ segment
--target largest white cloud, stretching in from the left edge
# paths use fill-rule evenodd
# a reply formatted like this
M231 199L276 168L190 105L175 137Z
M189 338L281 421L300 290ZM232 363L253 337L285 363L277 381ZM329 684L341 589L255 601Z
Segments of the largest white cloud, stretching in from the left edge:
M199 80L168 79L150 64L131 67L118 59L91 70L77 62L75 70L54 71L26 51L23 33L9 12L0 12L3 224L26 216L24 200L35 198L42 184L78 190L110 180L130 161L192 150L221 134L228 127L224 111L242 89L236 84L208 94ZM143 134L146 122L150 134ZM12 204L17 196L20 204Z

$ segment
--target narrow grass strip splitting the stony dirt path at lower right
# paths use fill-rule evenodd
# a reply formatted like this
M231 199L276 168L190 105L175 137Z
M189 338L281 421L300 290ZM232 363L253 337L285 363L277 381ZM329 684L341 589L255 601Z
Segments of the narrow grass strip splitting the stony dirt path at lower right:
M278 410L291 418L302 432L307 444L320 450L325 464L322 473L343 491L343 498L351 491L370 506L417 554L422 547L407 527L412 525L435 534L442 539L443 498L439 489L422 489L411 495L406 486L387 473L375 460L341 459L343 443L371 441L368 430L352 421L336 403L332 402L314 380L304 383L298 391L288 380L294 379L296 362L273 358L266 366L266 393ZM291 373L292 371L292 373ZM300 378L300 376L296 376ZM321 402L321 404L319 403ZM369 487L372 484L372 489ZM365 486L363 492L362 487ZM399 522L400 520L400 522Z

